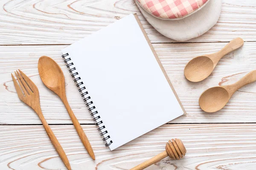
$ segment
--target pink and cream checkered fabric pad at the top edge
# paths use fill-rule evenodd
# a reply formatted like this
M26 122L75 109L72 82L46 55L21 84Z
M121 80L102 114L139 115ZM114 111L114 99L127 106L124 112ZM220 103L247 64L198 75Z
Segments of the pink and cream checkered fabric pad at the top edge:
M162 19L183 18L208 0L137 0L148 13Z

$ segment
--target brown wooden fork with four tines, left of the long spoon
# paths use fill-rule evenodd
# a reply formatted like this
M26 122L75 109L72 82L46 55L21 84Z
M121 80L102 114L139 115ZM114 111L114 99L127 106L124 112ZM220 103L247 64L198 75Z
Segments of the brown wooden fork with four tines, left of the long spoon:
M47 132L53 146L55 147L56 151L58 152L61 160L65 164L68 170L71 170L70 163L67 159L67 155L65 154L61 144L58 142L57 138L53 134L51 128L49 127L48 123L44 119L43 113L41 111L41 106L39 102L39 92L36 85L27 77L22 71L16 71L15 75L18 79L20 85L18 85L15 77L12 75L12 80L14 82L17 94L21 101L29 105L39 116L41 122L44 125L44 129Z

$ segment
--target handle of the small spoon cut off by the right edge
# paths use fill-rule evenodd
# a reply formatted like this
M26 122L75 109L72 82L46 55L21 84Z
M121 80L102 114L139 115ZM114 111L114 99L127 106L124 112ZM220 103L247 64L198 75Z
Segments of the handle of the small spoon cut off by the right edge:
M247 85L251 82L256 81L256 70L250 71L250 73L246 74L243 78L241 78L238 82L232 84L232 85L226 85L224 88L226 88L227 91L229 91L230 94L235 93L239 88L243 87L244 85Z

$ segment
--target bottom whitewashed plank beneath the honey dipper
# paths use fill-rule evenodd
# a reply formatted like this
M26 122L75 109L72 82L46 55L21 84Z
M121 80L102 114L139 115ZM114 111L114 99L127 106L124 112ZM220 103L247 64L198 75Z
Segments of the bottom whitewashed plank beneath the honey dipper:
M169 158L147 170L254 170L255 124L164 125L114 151L105 147L94 125L83 125L96 161L84 149L73 125L51 125L72 170L127 170L165 150L172 138L181 139L184 159ZM65 169L41 125L0 126L1 170Z

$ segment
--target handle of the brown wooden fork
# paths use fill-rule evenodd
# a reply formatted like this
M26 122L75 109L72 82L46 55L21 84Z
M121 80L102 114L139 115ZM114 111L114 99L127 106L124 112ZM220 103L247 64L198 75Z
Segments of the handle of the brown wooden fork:
M67 155L64 152L63 148L61 147L61 144L58 142L56 136L54 135L54 133L52 132L52 129L49 127L48 123L46 122L46 120L44 119L44 116L39 116L41 119L41 122L44 125L44 129L47 132L47 135L49 136L52 145L55 147L55 150L58 152L61 160L63 161L63 163L65 164L65 166L67 167L68 170L71 170L71 166L70 163L67 159Z

